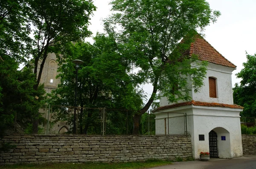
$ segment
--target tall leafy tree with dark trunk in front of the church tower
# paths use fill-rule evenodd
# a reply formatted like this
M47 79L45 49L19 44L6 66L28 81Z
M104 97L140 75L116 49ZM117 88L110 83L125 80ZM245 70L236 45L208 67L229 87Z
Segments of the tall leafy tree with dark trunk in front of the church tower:
M91 32L87 26L96 7L91 0L28 0L26 7L28 23L34 34L32 56L37 76L34 89L37 90L48 53L58 54L68 42L88 37ZM33 132L37 130L38 119L35 118Z

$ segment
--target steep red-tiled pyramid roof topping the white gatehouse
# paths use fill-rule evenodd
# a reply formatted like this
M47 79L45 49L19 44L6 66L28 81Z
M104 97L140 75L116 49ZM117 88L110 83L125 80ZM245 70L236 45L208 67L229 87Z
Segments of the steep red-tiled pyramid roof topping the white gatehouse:
M217 65L223 65L230 68L236 68L236 65L228 61L224 56L222 56L212 45L209 44L203 37L198 36L195 42L192 42L190 49L186 50L183 55L192 56L195 54L201 61L208 61Z

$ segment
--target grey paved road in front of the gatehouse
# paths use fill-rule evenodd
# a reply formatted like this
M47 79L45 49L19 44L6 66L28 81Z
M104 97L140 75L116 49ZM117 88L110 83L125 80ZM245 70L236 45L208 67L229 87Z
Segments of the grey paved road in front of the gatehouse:
M247 155L233 159L211 159L210 161L175 162L168 166L151 169L256 169L256 155Z

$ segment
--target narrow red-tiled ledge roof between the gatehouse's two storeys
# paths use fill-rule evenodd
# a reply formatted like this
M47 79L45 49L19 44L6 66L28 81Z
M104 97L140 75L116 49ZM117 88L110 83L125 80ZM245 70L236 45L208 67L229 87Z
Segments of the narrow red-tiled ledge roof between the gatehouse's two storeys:
M201 102L201 101L187 101L183 103L177 103L177 104L172 104L168 106L162 106L158 107L157 109L153 110L153 112L157 112L158 110L164 110L164 109L169 109L173 107L180 107L180 106L186 106L186 105L191 105L193 104L194 106L206 106L206 107L227 107L227 108L233 108L233 109L243 109L244 107L241 107L236 104L222 104L222 103L208 103L208 102Z

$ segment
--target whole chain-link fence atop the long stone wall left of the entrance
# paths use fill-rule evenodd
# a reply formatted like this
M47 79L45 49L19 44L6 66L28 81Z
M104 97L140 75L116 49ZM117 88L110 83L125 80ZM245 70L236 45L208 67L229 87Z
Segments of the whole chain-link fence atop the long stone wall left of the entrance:
M39 134L132 135L134 114L123 109L44 105L39 110ZM185 113L144 113L140 116L141 135L186 134ZM32 124L15 132L32 133Z

